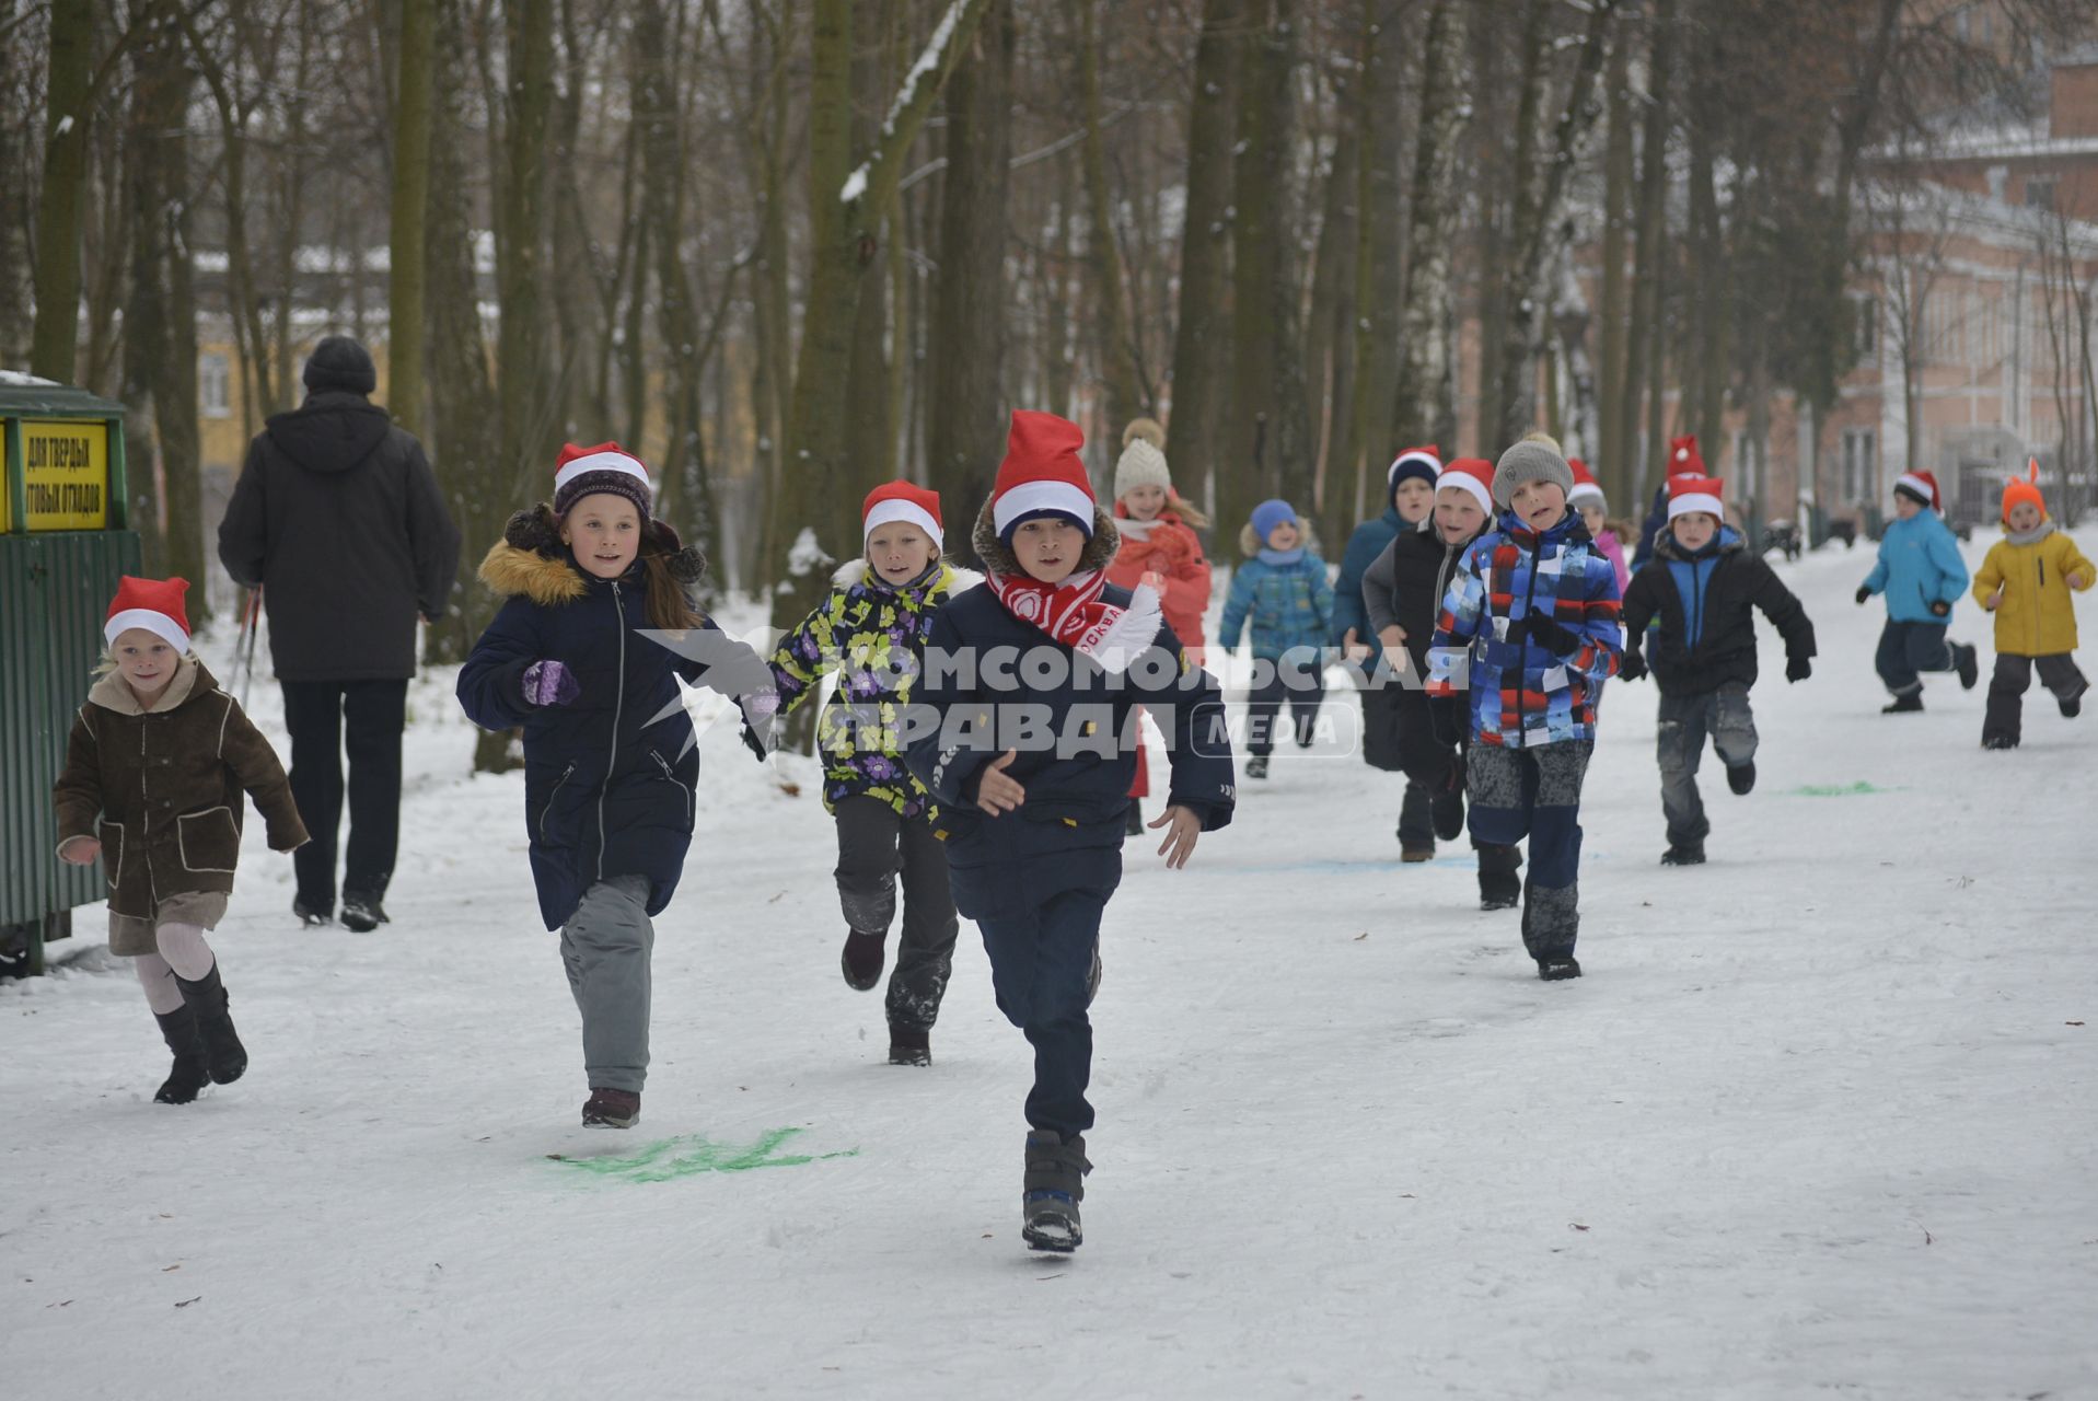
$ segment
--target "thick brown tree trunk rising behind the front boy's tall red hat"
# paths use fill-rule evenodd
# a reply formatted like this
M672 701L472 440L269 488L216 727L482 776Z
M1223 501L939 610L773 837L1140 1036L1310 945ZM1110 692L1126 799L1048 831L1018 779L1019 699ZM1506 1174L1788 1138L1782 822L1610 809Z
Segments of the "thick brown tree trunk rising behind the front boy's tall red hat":
M990 495L1005 432L1015 38L1011 0L997 0L946 88L940 277L932 285L923 396L934 409L925 419L927 474L955 520L973 520Z

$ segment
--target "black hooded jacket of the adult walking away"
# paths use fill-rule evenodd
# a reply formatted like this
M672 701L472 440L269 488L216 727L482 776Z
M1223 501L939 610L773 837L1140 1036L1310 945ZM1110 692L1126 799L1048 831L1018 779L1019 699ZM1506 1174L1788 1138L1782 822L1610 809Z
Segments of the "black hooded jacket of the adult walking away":
M327 390L248 447L218 560L266 585L277 680L407 680L415 615L441 619L451 600L459 531L422 443L363 394Z

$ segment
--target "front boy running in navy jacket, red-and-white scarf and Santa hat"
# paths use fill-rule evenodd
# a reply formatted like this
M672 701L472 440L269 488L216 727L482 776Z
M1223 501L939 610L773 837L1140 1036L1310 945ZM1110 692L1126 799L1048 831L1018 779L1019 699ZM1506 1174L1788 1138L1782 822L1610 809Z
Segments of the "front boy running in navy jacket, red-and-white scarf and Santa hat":
M1099 921L1122 879L1135 707L1171 738L1171 795L1150 826L1187 864L1232 820L1232 745L1217 684L1160 621L1150 585L1110 585L1116 531L1085 476L1076 424L1013 413L976 522L988 570L940 608L913 703L911 772L940 803L955 904L990 956L999 1011L1034 1047L1022 1233L1083 1240L1093 1105L1087 1007Z

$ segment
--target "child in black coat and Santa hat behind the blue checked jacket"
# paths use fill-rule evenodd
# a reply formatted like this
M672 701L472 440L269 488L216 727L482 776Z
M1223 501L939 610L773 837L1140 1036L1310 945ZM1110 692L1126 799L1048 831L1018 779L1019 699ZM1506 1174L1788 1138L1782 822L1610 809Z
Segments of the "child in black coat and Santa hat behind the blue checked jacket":
M1456 577L1458 560L1494 518L1494 464L1458 457L1435 482L1435 514L1425 529L1406 531L1362 577L1364 615L1385 648L1385 690L1397 696L1399 757L1408 786L1431 797L1431 837L1456 841L1464 835L1464 745L1435 734L1435 717L1422 677L1429 671L1429 642L1443 591ZM1515 872L1523 854L1513 843L1471 839L1479 856L1479 908L1513 910L1521 904ZM1429 856L1435 854L1433 841Z

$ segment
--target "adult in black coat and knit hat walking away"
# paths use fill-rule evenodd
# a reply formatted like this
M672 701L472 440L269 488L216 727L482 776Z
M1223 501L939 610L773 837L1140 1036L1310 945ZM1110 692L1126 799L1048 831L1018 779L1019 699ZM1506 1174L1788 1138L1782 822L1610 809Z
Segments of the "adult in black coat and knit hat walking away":
M336 828L348 745L350 839L342 923L373 929L401 833L401 732L415 675L415 619L438 619L459 564L422 445L371 403L371 354L327 336L304 369L306 403L248 447L218 524L235 583L260 587L292 732L292 795L313 841L292 858L294 910L336 908Z

